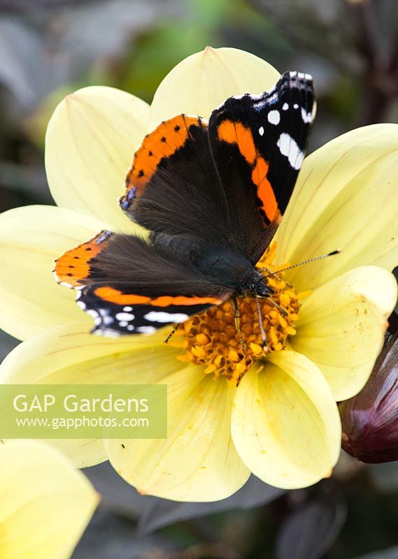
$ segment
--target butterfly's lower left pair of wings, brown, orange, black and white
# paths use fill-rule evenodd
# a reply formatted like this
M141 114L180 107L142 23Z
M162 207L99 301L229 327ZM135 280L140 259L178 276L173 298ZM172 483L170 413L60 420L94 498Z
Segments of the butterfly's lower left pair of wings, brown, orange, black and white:
M77 291L94 333L152 333L219 305L231 291L215 286L189 261L170 260L152 242L101 231L55 262L57 282Z

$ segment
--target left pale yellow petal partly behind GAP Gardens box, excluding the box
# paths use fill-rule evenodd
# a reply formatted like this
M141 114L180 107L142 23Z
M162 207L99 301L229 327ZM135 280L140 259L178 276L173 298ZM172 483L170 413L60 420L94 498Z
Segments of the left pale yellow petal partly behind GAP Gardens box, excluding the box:
M169 329L168 329L169 331ZM166 333L106 338L85 324L45 331L16 347L0 365L1 384L151 384L183 368L178 350L163 343ZM101 440L55 439L78 467L104 462Z

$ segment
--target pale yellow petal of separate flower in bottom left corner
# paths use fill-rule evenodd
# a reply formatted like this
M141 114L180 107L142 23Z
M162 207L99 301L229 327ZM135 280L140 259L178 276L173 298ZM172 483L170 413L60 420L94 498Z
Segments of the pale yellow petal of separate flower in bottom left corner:
M67 559L99 496L60 453L34 441L0 447L0 556Z

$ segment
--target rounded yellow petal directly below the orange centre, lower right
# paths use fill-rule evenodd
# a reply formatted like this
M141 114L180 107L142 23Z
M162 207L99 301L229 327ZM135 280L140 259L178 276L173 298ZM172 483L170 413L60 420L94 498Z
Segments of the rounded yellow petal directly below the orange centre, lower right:
M301 354L274 352L238 386L232 437L243 462L267 484L294 489L328 477L341 425L325 377Z

